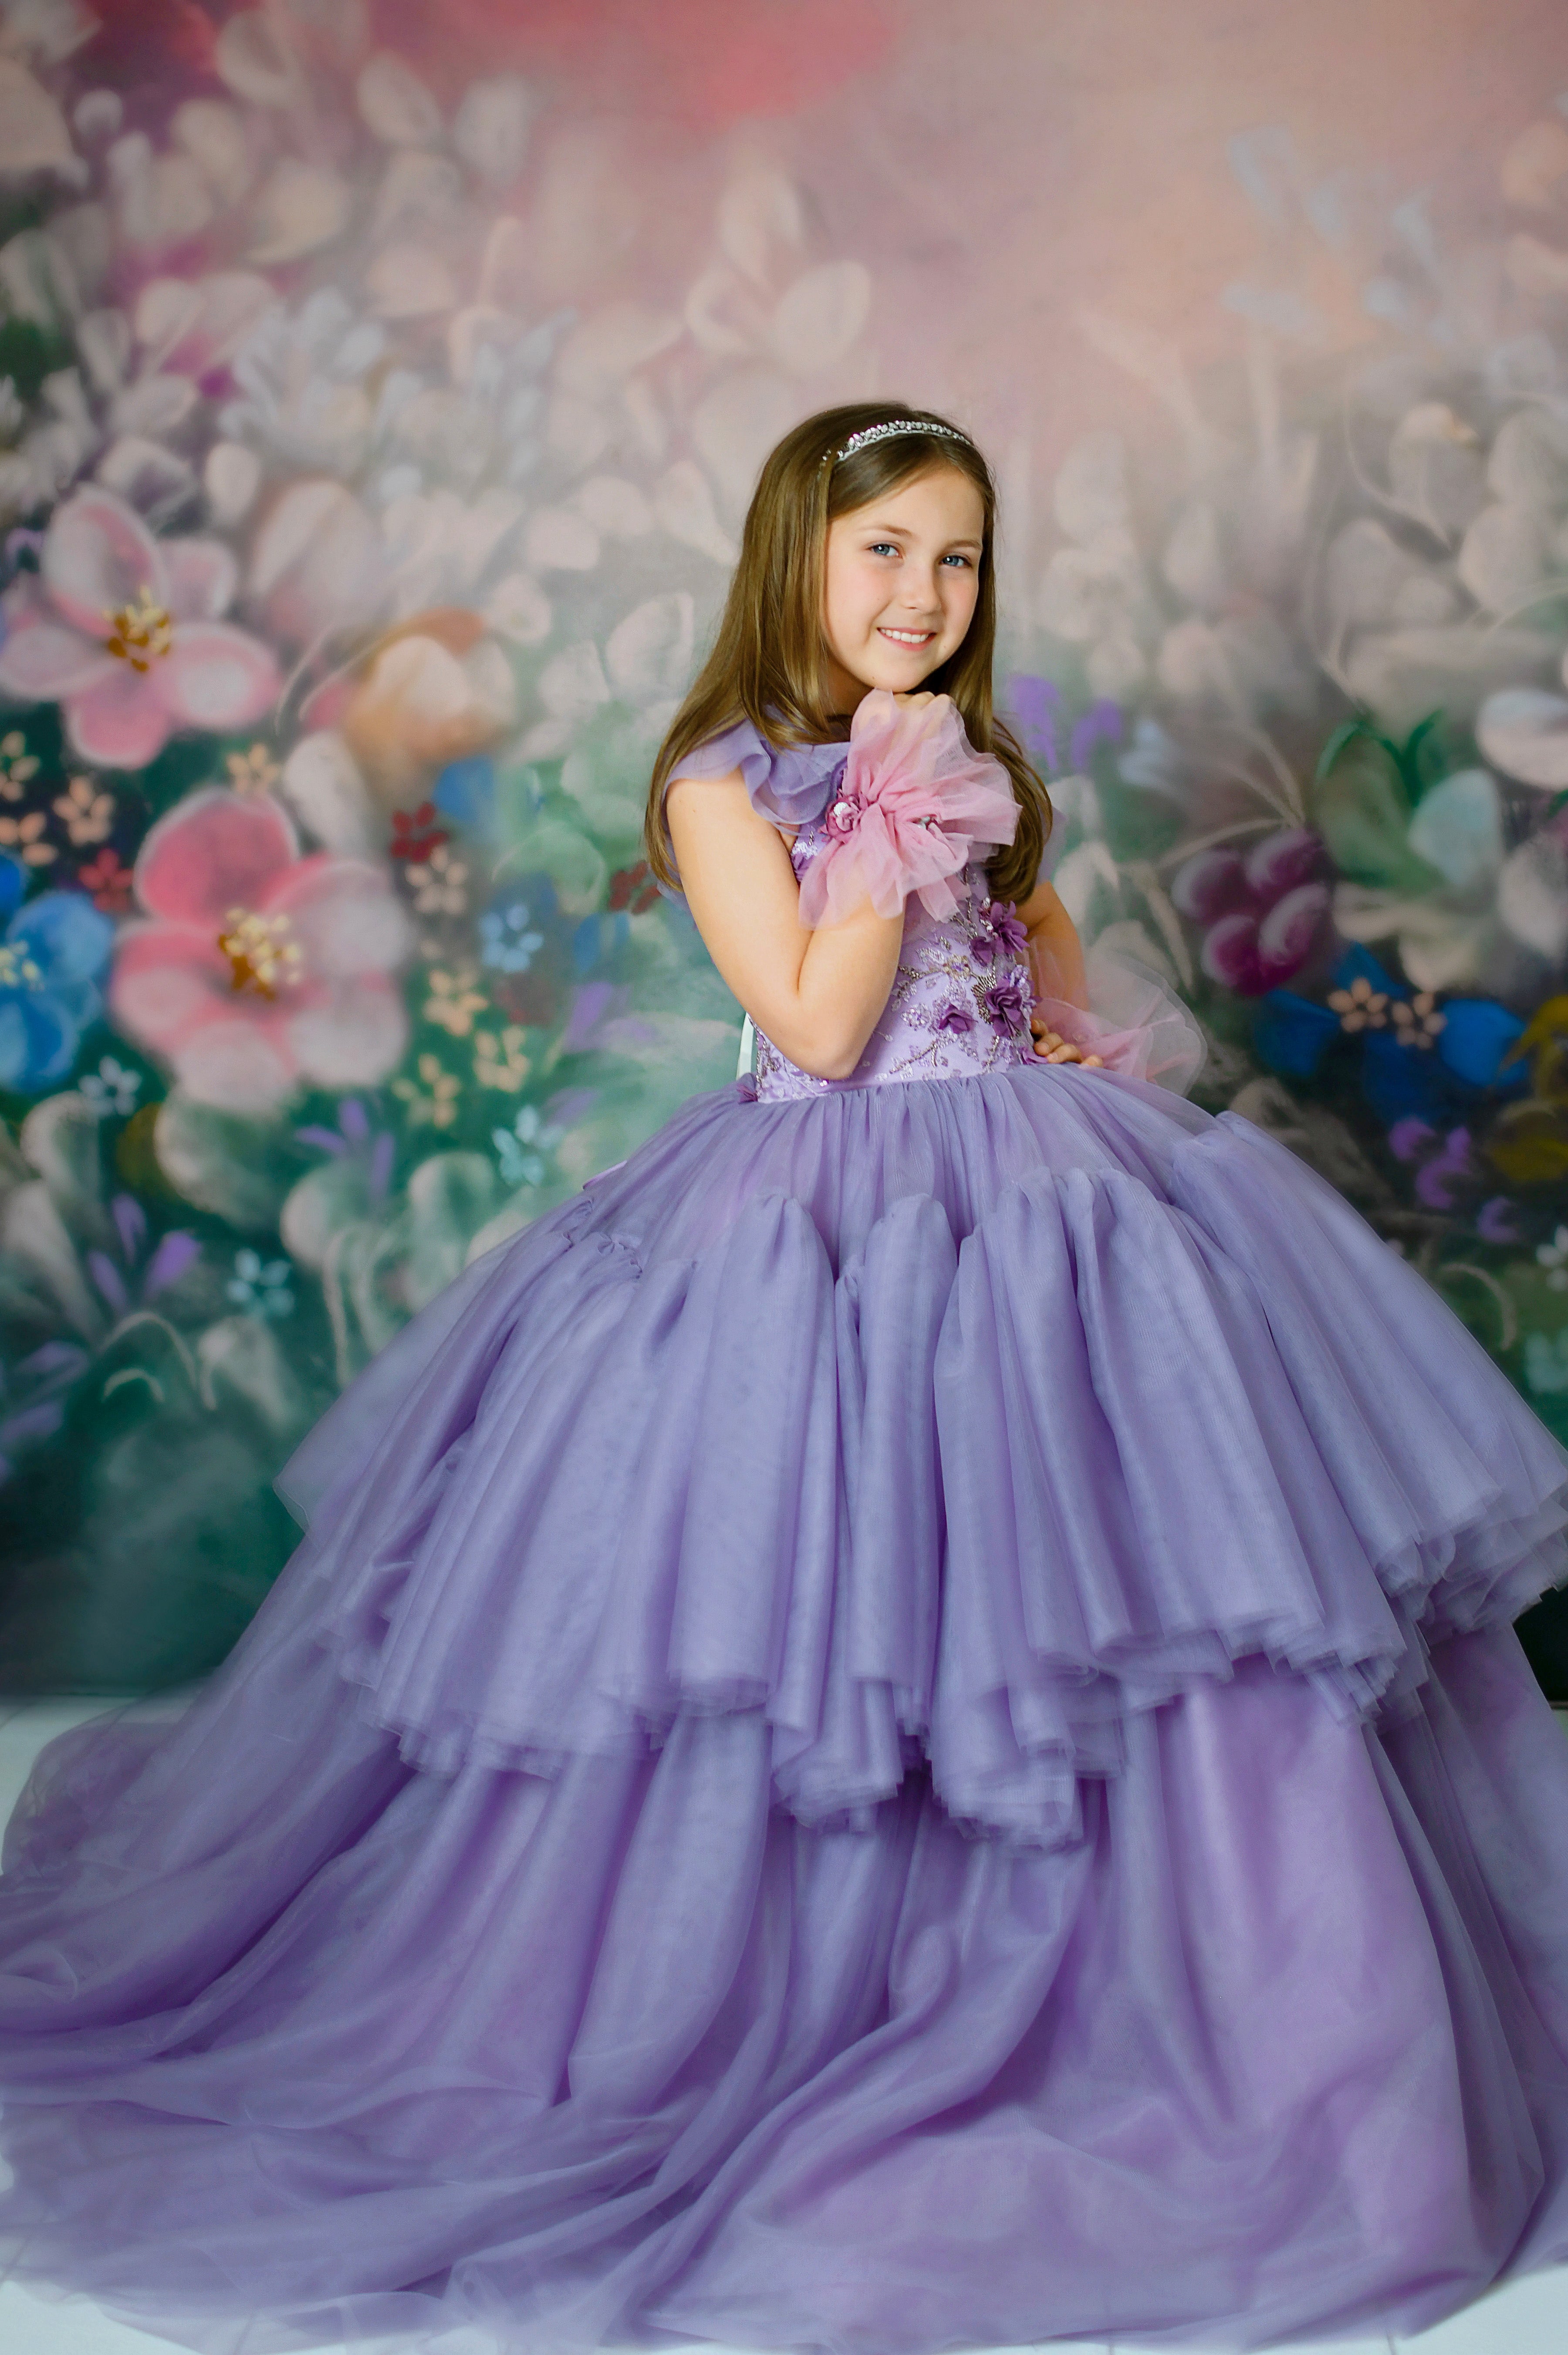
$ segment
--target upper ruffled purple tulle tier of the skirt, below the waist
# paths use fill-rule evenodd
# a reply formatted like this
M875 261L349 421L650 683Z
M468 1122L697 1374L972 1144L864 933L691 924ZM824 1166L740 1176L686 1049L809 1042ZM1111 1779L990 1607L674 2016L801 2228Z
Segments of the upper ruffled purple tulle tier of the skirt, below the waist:
M1043 1846L1238 1658L1391 1719L1431 1641L1568 1575L1568 1453L1436 1293L1248 1121L1071 1064L692 1100L283 1486L410 1764L760 1712L808 1825L925 1757Z

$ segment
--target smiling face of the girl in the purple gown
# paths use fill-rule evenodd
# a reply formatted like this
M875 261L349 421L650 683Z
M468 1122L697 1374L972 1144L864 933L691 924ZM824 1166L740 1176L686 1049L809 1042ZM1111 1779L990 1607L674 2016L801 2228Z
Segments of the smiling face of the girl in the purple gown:
M836 711L869 688L909 695L963 645L979 596L984 506L932 466L829 523L822 629Z

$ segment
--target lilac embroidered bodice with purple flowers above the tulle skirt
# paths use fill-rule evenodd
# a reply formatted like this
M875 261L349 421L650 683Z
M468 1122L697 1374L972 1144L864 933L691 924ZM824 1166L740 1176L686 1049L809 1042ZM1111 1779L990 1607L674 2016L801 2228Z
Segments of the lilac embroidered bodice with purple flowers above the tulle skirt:
M791 864L803 874L826 845L822 824L803 827ZM906 1079L970 1079L1003 1064L1034 1062L1029 954L1012 902L989 897L979 862L963 869L968 893L956 916L935 918L918 897L904 904L904 947L892 989L866 1053L848 1079L815 1079L756 1034L758 1100L836 1095ZM954 876L958 890L958 876Z

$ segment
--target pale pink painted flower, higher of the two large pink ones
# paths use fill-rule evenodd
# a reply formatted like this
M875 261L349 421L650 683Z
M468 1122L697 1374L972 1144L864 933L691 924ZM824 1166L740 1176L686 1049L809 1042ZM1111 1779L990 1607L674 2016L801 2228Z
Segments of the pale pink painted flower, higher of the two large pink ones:
M181 728L250 728L278 697L271 652L217 617L235 563L217 539L153 539L113 490L57 509L38 577L5 593L0 692L59 702L99 768L146 768Z

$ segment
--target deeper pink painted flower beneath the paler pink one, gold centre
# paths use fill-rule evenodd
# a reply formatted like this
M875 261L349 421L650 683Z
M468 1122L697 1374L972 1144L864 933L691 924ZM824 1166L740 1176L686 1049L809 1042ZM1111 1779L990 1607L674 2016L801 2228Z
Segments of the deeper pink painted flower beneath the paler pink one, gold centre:
M120 933L108 1003L200 1102L266 1112L301 1081L363 1088L403 1057L410 926L386 874L299 857L268 794L207 787L160 817L137 900L151 921Z

